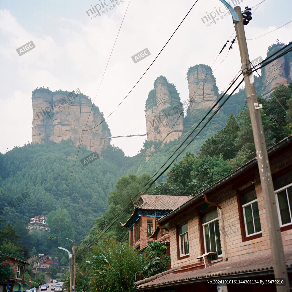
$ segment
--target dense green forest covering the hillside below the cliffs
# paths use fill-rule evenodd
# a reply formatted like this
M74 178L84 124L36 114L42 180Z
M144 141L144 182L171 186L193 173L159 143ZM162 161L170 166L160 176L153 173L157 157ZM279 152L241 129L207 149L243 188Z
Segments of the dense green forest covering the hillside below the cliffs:
M109 224L117 218L126 221L133 212L133 205L128 203L138 198L140 190L149 194L198 193L246 163L255 155L244 95L245 91L241 89L237 99L230 98L229 103L225 104L227 107L215 115L150 189L143 187L158 170L157 166L161 166L176 149L182 148L180 146L187 130L197 125L203 111L184 118L189 128L179 140L164 145L145 141L134 157L125 157L121 149L110 146L103 151L103 159L83 167L79 160L90 153L81 147L74 166L78 148L70 140L62 140L59 144L16 146L0 154L0 218L6 220L5 224L0 225L0 230L13 229L21 236L13 242L6 241L8 250L15 252L19 258L27 258L34 247L33 253L58 256L65 263L58 245L61 243L61 246L70 249L70 244L60 240L48 241L47 235L72 238L74 230L74 240L78 241L88 234L80 246L86 250L97 242L96 235L106 227L104 236L123 242L127 240L127 230L121 228L119 223ZM289 84L288 87L279 86L269 100L259 98L263 104L261 115L267 147L292 133L291 97L292 84ZM230 108L234 109L235 114L227 117L224 111L228 112ZM155 152L146 163L146 150L152 144ZM19 197L24 194L27 195L20 201ZM124 210L125 206L127 208ZM58 223L61 209L62 216ZM25 224L29 218L40 214L47 215L51 231L42 236L38 232L29 234ZM19 244L23 246L20 254L16 251Z

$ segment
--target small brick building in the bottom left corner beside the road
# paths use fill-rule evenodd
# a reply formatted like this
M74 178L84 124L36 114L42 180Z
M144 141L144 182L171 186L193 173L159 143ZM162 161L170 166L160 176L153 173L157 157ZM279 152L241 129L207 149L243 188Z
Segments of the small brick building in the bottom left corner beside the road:
M13 258L12 256L8 256L8 260L5 264L9 264L11 270L13 272L13 277L8 279L4 279L4 281L0 282L0 292L5 292L6 288L9 285L8 292L15 291L25 291L26 284L24 280L24 270L25 264L28 264L25 260L20 260L18 258Z

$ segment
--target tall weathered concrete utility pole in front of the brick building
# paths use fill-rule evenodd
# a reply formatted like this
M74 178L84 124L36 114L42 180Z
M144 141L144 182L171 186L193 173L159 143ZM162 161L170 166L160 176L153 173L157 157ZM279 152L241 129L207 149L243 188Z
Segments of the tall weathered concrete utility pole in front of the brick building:
M258 98L256 89L254 87L253 74L251 72L251 65L249 62L246 37L244 32L243 17L239 6L234 7L239 21L234 21L237 41L239 45L242 72L244 76L244 83L246 95L248 100L249 113L251 116L251 125L253 129L253 138L256 146L256 154L258 161L258 169L260 173L260 183L262 187L264 204L267 218L267 228L270 238L272 264L274 267L275 278L286 279L285 286L277 286L277 292L289 292L289 279L286 269L283 242L281 237L276 198L274 194L274 185L272 181L270 163L267 154L265 143L265 136L263 131L263 123L260 116L260 106L258 105Z

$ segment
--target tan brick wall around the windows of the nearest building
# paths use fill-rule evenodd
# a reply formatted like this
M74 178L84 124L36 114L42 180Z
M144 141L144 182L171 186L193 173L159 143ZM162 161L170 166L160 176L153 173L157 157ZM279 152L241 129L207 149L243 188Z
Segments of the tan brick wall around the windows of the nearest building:
M292 165L292 151L281 152L278 157L270 160L272 175L281 171L283 168ZM256 181L247 182L245 185L241 185L237 190L232 190L232 187L226 186L223 190L218 190L209 201L212 201L221 206L221 214L223 219L223 226L221 225L220 215L219 218L219 229L220 229L220 242L223 254L225 253L228 260L239 260L254 258L256 256L263 256L271 254L270 241L267 230L267 218L265 213L263 192L260 185L260 177L258 170L256 169L255 178ZM243 233L240 225L239 207L238 207L238 195L237 192L245 190L246 188L254 186L256 190L258 208L260 215L260 224L262 230L262 236L248 240L248 237L243 238ZM190 256L187 258L178 258L177 252L177 226L187 222L188 223L188 238L189 238L189 249ZM223 228L224 227L224 228ZM224 231L223 231L224 230ZM170 232L170 248L171 248L171 267L177 267L182 265L190 265L197 263L198 256L202 254L201 241L199 232L199 217L193 207L185 214L178 215L169 223ZM292 229L281 232L284 252L290 250L292 247ZM252 238L252 237L251 237ZM224 248L225 246L225 248Z

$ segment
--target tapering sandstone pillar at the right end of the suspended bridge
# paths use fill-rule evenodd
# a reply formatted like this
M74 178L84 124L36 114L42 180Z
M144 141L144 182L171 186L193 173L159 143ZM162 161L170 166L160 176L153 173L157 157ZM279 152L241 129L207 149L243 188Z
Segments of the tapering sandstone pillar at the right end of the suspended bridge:
M183 133L183 115L175 86L164 76L158 77L146 100L147 140L165 143L178 139Z

